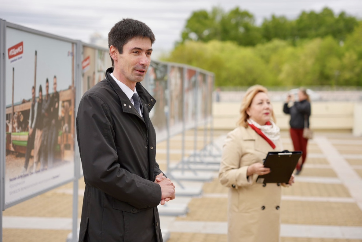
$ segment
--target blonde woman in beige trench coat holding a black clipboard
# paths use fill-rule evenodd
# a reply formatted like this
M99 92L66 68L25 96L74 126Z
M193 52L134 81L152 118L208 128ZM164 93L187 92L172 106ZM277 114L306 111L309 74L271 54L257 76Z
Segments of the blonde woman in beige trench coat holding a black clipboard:
M258 175L271 172L263 165L268 152L283 150L267 92L261 85L248 89L239 126L228 133L223 147L219 180L230 188L228 242L279 241L281 185L287 184L256 184Z

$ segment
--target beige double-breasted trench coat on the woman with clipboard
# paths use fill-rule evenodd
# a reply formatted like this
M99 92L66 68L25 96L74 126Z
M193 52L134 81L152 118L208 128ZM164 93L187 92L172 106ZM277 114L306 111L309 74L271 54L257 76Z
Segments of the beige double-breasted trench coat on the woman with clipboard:
M265 159L273 148L250 127L237 127L228 133L223 147L219 181L229 187L228 242L278 242L280 230L281 185L256 184L257 176L247 178L249 165Z

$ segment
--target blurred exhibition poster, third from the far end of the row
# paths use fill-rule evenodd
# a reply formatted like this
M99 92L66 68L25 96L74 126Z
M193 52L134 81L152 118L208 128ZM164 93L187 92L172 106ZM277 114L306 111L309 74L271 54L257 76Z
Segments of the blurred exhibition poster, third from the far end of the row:
M196 92L196 70L188 68L186 70L186 82L184 83L185 95L185 126L186 129L195 126L195 92Z

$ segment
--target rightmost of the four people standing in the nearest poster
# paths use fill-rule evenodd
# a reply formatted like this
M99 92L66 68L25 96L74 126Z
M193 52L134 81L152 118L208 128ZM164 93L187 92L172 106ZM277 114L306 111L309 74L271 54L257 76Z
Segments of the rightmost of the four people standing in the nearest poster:
M54 149L58 143L59 92L56 91L56 76L53 78L53 94L50 99L50 127L48 135L48 168L53 167Z

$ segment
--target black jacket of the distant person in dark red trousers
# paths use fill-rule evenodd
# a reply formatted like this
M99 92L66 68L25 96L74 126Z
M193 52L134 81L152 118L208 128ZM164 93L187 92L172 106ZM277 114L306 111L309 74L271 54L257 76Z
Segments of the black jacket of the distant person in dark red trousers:
M308 100L300 102L294 102L292 107L288 107L285 103L283 112L290 114L290 128L292 129L303 129L304 128L304 117L307 115L307 125L309 127L309 116L311 115L311 103Z

